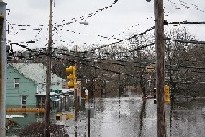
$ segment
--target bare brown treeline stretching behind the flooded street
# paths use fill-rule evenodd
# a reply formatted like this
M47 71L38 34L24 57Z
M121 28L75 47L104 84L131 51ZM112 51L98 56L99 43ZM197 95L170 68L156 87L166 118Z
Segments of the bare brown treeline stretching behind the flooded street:
M165 81L172 93L204 96L205 44L197 41L186 28L166 32L165 43ZM123 93L127 86L140 87L136 89L144 95L155 87L156 54L151 33L135 34L126 41L109 45L77 46L77 50L59 46L52 51L53 73L66 79L65 68L76 63L78 79L86 81L90 88L91 83L96 83L99 89L106 88L110 96L118 95L121 89ZM36 48L13 52L8 62L46 65L46 57L46 48Z

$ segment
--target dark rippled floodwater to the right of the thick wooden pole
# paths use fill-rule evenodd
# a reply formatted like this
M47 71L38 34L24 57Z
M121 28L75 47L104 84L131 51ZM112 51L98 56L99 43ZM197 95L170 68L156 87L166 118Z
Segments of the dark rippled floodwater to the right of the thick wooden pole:
M176 101L172 110L171 136L203 137L205 135L205 119L202 109L204 99Z

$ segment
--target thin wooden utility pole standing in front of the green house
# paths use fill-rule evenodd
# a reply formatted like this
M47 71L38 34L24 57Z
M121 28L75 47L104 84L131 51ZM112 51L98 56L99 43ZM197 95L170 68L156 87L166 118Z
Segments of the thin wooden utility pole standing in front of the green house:
M49 39L47 49L47 71L46 71L46 102L45 102L45 137L50 137L50 87L51 87L51 59L52 59L52 5L50 0L50 16L49 16Z

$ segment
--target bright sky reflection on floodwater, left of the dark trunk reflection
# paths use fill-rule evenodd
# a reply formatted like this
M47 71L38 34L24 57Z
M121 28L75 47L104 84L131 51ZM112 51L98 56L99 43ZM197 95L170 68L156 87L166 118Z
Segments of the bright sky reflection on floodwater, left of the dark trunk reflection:
M139 117L141 98L112 98L101 100L104 104L103 113L96 113L93 121L98 121L100 125L93 125L97 131L91 136L99 137L121 137L135 136L138 126L134 126L135 119ZM101 104L102 104L101 102ZM99 103L99 101L97 101ZM98 106L98 105L97 105ZM137 114L136 114L137 113ZM137 119L136 119L137 120ZM111 132L108 132L111 131Z

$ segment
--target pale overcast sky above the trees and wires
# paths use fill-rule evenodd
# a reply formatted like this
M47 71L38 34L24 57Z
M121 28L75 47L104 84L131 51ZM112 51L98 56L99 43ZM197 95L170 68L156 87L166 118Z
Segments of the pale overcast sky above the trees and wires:
M7 3L7 9L10 9L10 12L7 10L7 23L10 24L7 43L35 40L36 43L29 44L29 48L46 47L50 0L3 1ZM73 45L84 47L89 44L110 44L117 41L114 38L126 39L131 34L144 32L154 25L153 0L118 0L115 4L114 1L54 0L54 46L71 48ZM164 7L168 22L205 21L204 0L164 0ZM88 25L79 23L85 20ZM205 41L205 25L184 26L197 39ZM165 30L170 28L173 26L169 25Z

